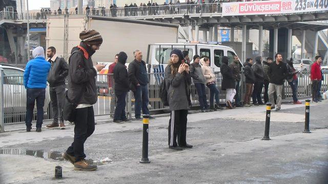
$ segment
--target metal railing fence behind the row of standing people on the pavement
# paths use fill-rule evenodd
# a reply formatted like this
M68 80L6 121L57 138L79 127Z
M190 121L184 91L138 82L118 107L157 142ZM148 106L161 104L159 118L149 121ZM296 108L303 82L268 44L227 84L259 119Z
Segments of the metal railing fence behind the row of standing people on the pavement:
M4 124L12 123L22 123L25 122L26 115L26 89L23 85L23 76L5 76L0 70L0 118ZM163 106L159 97L159 85L164 78L164 73L150 73L149 75L149 109L150 111L154 110L165 110L167 107ZM322 81L321 91L322 93L328 89L328 72L323 72L324 81ZM242 81L244 77L241 74ZM225 102L226 92L221 90L221 81L222 77L220 73L216 73L217 82L216 85L220 89L220 102ZM96 87L98 93L98 100L94 104L94 113L95 116L110 115L114 113L116 99L115 99L115 85L113 75L103 75L99 74L96 80ZM242 101L244 95L244 82L240 84L240 99ZM206 87L207 90L207 99L209 99L210 90ZM264 89L263 89L264 90ZM292 98L292 89L289 86L288 82L284 83L283 88L283 98L290 99ZM309 72L303 72L298 75L298 97L310 97L312 95L311 79ZM262 96L263 97L263 96ZM196 93L196 88L194 85L191 85L191 99L192 105L199 105L198 96ZM127 96L127 116L132 117L134 113L135 99L133 92L130 91ZM44 106L44 120L52 119L52 109L51 101L49 96L49 86L46 88L46 99ZM2 115L3 114L3 115ZM36 120L36 107L34 108L34 118ZM0 126L0 128L3 128Z

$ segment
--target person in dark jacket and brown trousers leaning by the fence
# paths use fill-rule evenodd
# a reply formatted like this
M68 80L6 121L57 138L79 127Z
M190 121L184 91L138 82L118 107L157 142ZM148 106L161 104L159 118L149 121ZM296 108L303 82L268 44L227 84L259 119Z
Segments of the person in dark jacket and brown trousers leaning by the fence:
M251 105L251 95L253 93L253 86L255 81L254 71L252 68L253 59L247 58L244 63L244 75L246 83L246 93L244 97L244 106L250 107Z

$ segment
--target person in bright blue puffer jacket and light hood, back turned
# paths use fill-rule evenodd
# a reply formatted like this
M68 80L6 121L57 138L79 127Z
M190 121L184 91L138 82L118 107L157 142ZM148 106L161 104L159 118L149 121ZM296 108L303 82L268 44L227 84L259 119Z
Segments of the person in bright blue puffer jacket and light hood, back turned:
M51 64L45 59L43 47L37 47L33 50L34 59L26 64L24 71L24 86L26 88L26 131L32 129L33 109L36 100L37 120L36 131L41 131L43 123L43 106L46 98L47 76Z

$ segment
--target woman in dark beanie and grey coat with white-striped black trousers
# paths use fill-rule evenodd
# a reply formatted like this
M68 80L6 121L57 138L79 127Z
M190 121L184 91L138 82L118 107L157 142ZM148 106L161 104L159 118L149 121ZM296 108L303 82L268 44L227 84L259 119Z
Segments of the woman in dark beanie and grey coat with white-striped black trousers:
M169 148L182 150L193 147L186 142L187 115L191 105L189 91L191 76L189 66L182 60L183 55L180 50L172 50L170 56L169 64L165 68L165 81L171 110Z

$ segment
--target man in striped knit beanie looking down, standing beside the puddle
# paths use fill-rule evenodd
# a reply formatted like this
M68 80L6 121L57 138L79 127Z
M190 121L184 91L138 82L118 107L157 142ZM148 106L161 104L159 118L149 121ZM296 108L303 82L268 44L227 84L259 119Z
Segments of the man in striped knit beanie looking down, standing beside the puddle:
M74 141L62 154L74 165L74 170L94 171L96 165L86 161L84 143L94 131L93 104L97 102L97 72L105 65L93 66L91 56L99 50L103 38L95 30L85 30L79 34L80 44L74 47L69 58L67 98L77 104L75 111Z

